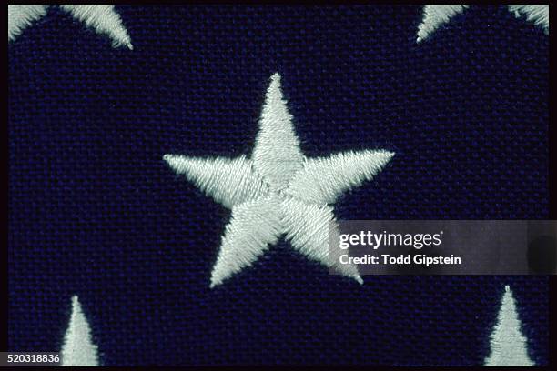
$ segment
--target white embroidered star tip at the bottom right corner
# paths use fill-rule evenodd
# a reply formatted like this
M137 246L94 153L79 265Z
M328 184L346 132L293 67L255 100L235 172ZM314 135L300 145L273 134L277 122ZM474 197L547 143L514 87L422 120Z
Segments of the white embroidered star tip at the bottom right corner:
M505 286L497 325L491 333L491 355L485 366L535 366L528 356L527 339L522 335L521 321L511 287Z

